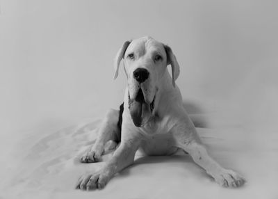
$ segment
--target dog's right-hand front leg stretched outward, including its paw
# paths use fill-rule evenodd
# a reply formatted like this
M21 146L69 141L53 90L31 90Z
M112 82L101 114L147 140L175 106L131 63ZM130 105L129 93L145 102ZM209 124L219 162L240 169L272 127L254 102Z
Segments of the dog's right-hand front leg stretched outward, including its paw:
M177 125L174 128L174 136L176 137L178 147L188 152L193 161L204 168L206 173L211 175L218 184L226 187L238 187L244 184L245 180L243 177L234 172L234 170L223 168L208 155L206 148L197 135L195 127L190 121L186 122L186 124L183 123L183 125Z

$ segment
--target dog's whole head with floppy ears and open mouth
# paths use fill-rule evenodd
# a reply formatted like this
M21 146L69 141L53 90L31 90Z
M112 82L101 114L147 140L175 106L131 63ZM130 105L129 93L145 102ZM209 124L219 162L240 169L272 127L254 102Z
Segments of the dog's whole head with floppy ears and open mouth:
M117 78L120 62L124 59L129 89L129 111L136 127L144 125L153 115L156 93L165 78L167 65L172 67L172 86L179 76L179 64L172 49L150 37L124 42L115 58Z

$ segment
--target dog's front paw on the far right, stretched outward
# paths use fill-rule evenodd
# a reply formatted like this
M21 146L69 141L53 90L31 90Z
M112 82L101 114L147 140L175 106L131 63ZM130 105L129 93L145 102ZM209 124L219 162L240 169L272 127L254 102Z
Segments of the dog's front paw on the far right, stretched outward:
M239 187L245 183L245 179L234 170L222 169L220 173L213 177L218 184L224 187Z

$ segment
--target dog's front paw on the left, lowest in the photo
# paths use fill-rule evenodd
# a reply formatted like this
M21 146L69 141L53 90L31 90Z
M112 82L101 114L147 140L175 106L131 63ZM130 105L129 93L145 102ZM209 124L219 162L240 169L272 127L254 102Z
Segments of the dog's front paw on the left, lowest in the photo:
M111 179L111 176L108 173L99 171L92 175L83 175L79 178L79 181L76 184L76 189L81 190L95 190L103 189L106 186L107 182Z

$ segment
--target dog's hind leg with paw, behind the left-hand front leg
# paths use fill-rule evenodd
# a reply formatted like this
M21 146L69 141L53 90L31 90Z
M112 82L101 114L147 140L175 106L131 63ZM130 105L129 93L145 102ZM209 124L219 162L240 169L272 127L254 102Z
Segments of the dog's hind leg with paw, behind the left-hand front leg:
M110 109L99 127L99 133L95 144L90 150L85 152L81 157L82 163L93 163L99 161L101 154L104 152L104 146L108 141L112 141L112 145L120 142L120 128L118 127L120 111Z

